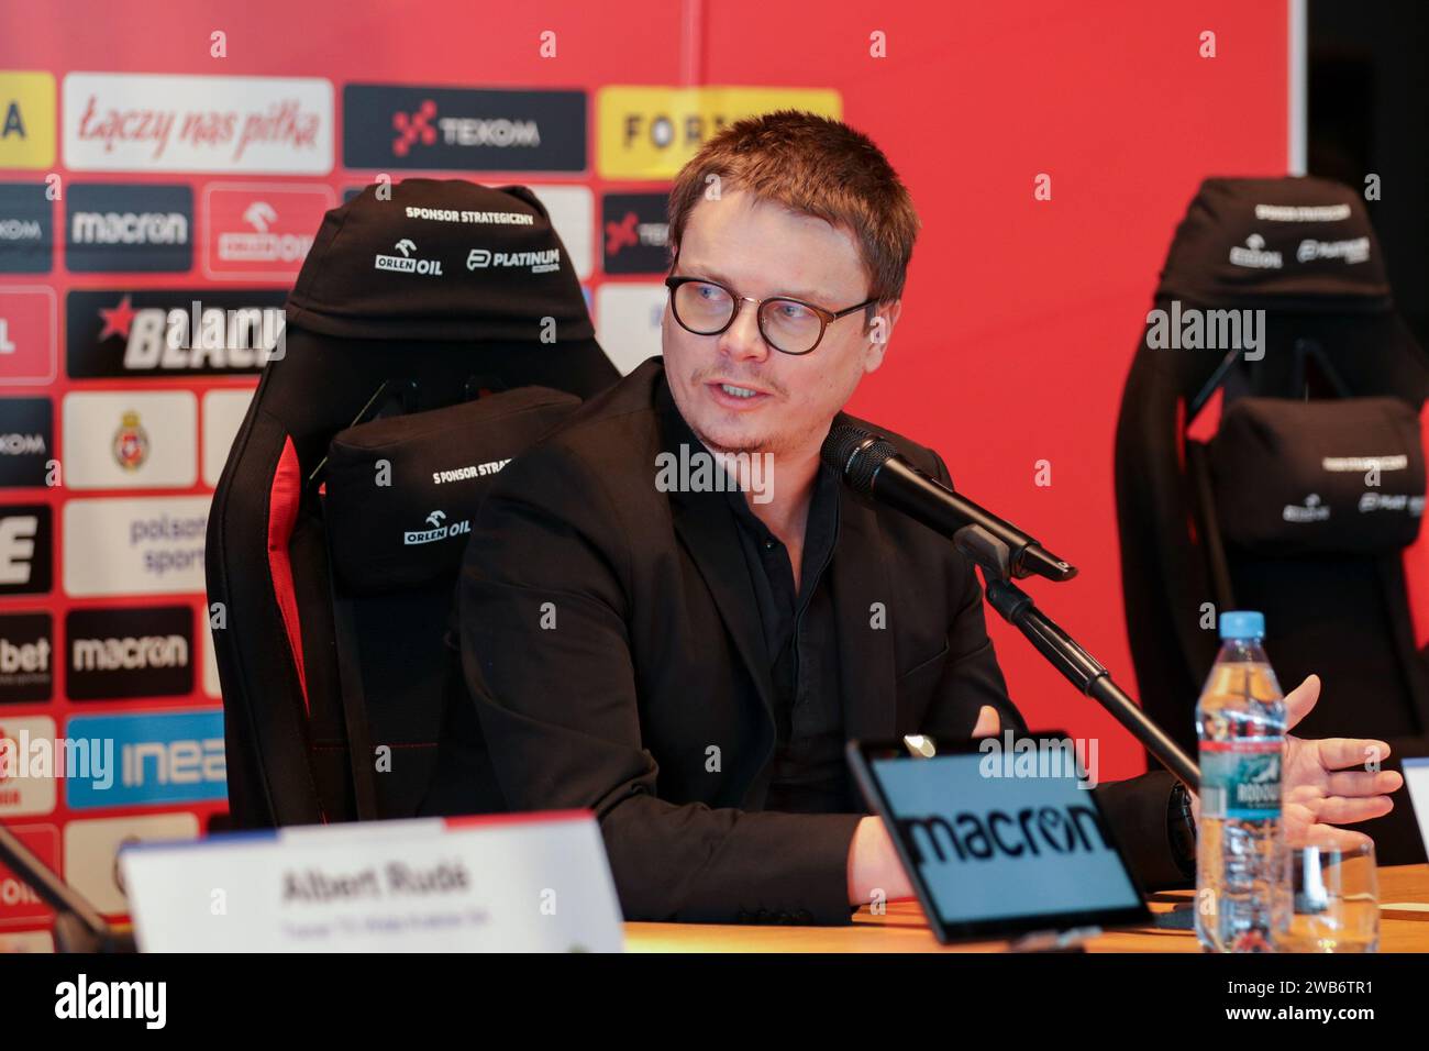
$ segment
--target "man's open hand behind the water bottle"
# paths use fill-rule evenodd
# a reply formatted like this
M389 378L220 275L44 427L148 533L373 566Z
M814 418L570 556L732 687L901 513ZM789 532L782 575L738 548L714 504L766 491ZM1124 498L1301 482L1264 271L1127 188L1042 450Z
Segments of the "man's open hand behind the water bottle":
M1300 722L1320 698L1320 678L1310 675L1285 696L1286 728ZM1403 786L1396 771L1382 771L1389 755L1383 741L1285 736L1280 772L1282 821L1286 842L1328 842L1342 849L1370 842L1363 832L1335 825L1382 818L1395 808L1389 792ZM1358 769L1356 769L1358 768ZM1192 792L1192 814L1200 822L1200 799Z

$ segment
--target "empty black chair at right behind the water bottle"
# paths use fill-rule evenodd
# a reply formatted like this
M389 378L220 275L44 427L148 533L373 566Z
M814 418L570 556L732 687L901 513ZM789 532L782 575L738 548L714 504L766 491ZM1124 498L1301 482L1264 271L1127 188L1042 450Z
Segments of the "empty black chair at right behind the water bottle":
M1323 682L1296 734L1429 752L1429 655L1403 565L1423 508L1429 360L1395 310L1363 202L1320 179L1208 179L1155 307L1116 430L1122 592L1146 711L1195 748L1215 613L1259 609L1282 686ZM1198 310L1218 326L1228 319L1205 312L1265 310L1263 356L1152 345L1173 312ZM1423 859L1403 795L1360 828L1382 861Z

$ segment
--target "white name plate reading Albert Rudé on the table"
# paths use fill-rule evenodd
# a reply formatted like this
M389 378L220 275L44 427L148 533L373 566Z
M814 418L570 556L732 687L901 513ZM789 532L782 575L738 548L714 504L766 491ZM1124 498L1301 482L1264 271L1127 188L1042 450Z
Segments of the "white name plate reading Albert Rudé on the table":
M119 855L144 952L620 952L589 811L140 842Z

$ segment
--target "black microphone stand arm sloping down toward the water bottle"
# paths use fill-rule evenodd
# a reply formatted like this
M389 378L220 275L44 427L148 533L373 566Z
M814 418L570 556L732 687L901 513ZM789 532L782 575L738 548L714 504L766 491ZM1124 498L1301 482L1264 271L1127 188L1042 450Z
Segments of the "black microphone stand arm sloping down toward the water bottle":
M963 526L953 533L953 543L982 566L987 583L987 602L1002 619L1026 635L1063 678L1126 726L1180 784L1192 792L1199 791L1200 768L1180 749L1180 745L1147 718L1130 695L1112 681L1110 672L1095 656L1049 621L1033 605L1032 598L1012 582L1012 552L1007 545L976 525Z

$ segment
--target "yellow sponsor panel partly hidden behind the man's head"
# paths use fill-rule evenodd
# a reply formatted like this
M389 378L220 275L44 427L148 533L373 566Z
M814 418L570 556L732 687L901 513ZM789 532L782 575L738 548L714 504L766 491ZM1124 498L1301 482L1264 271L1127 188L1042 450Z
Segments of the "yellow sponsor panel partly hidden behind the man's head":
M770 110L843 117L843 99L820 87L602 87L596 164L602 179L673 179L706 139Z

